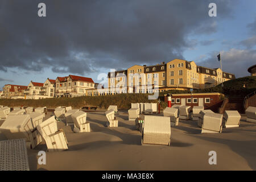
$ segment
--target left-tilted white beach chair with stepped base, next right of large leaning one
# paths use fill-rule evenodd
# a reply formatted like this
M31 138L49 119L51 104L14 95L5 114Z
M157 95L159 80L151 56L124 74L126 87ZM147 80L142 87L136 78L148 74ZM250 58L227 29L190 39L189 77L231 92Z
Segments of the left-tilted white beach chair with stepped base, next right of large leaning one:
M75 133L90 132L90 123L86 123L86 115L84 111L77 111L71 115L75 124L73 130Z

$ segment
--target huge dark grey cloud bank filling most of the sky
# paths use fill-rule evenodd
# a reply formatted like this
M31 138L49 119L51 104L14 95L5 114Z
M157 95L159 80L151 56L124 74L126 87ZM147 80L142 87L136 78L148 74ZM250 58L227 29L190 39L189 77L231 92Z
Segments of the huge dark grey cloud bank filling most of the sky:
M208 16L212 1L42 1L0 2L0 70L52 69L90 73L97 68L183 59L189 34L216 32ZM233 1L217 3L217 18L230 14Z

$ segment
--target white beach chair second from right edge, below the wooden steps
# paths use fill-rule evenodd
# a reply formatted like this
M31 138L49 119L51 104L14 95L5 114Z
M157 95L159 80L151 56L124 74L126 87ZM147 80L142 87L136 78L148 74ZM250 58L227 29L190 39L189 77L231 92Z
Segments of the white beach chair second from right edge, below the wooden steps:
M241 115L237 110L225 110L223 116L223 127L239 127Z

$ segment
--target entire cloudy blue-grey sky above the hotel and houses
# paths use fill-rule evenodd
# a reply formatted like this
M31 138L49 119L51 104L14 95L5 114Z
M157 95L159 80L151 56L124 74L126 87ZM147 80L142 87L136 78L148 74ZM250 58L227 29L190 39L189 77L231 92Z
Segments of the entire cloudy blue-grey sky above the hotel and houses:
M46 4L46 17L38 4ZM209 3L217 16L208 15ZM0 86L92 77L172 59L248 76L256 64L256 1L1 0Z

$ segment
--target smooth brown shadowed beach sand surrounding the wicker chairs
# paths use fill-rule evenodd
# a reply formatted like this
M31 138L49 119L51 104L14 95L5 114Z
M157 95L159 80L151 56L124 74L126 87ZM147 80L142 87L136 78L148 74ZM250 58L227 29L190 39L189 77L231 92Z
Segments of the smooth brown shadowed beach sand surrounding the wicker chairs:
M127 110L118 112L119 125L112 128L105 127L104 110L88 112L90 133L73 133L73 126L58 122L68 150L46 152L46 165L39 165L38 152L47 150L42 142L34 150L28 148L28 161L30 170L255 170L256 124L245 118L240 127L220 134L201 134L197 122L180 120L171 128L171 146L142 146L141 133L134 121L128 121ZM0 133L0 140L5 139ZM209 151L216 151L217 165L208 163Z

